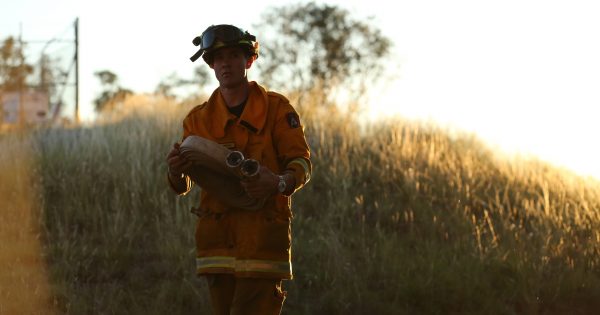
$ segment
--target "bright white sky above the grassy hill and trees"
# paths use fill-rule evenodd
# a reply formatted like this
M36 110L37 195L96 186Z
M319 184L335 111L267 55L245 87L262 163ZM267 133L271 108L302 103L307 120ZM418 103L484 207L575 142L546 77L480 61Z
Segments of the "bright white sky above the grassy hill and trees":
M0 1L0 38L68 37L79 17L84 117L101 90L95 71L110 70L121 86L152 92L171 73L191 76L191 40L207 26L235 24L252 33L266 8L292 3ZM373 17L393 41L391 78L373 87L370 117L399 115L475 132L509 154L600 179L596 1L325 2L357 18Z

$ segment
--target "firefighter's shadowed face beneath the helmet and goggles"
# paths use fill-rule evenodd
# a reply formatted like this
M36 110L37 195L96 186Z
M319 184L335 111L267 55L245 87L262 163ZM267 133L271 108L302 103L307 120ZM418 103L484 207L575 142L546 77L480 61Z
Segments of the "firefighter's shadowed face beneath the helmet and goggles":
M212 68L222 87L235 87L246 81L246 69L252 65L239 47L223 47L214 52Z

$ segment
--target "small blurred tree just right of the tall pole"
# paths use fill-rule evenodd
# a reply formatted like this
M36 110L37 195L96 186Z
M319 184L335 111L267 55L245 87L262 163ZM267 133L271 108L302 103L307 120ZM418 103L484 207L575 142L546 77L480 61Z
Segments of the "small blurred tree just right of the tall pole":
M109 70L97 71L94 75L98 77L103 88L94 100L96 112L112 111L117 105L122 104L128 95L133 94L131 90L121 87L118 76Z

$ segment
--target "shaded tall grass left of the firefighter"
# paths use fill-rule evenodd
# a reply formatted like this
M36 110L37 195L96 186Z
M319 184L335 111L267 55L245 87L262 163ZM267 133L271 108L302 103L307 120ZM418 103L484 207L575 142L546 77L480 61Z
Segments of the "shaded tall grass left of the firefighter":
M36 134L52 283L68 314L194 313L189 213L166 182L185 111Z

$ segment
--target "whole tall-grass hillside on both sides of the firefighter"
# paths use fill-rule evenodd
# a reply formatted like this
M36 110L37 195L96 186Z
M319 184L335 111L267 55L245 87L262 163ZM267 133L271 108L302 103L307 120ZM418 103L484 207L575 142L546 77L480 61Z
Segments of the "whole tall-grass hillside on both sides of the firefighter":
M209 313L197 191L176 197L165 178L186 110L32 136L62 312ZM432 125L304 114L314 173L294 199L284 314L600 309L597 183Z

